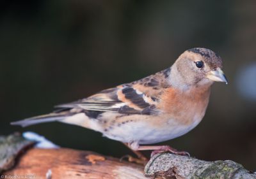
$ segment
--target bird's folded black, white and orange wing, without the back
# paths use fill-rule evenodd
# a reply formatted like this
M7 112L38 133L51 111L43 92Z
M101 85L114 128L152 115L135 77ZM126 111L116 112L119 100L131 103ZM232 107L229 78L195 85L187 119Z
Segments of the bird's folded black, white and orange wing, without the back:
M79 108L86 111L118 112L124 114L150 114L154 111L154 98L134 89L131 85L121 85L74 103L60 104L56 108Z

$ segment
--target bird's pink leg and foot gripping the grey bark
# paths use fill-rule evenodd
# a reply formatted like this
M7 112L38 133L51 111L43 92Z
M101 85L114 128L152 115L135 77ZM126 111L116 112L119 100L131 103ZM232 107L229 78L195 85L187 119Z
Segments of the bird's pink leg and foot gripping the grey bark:
M188 152L178 151L175 148L170 147L169 145L159 145L159 146L140 146L138 150L153 150L151 153L151 157L161 152L172 152L173 154L177 155L189 155Z

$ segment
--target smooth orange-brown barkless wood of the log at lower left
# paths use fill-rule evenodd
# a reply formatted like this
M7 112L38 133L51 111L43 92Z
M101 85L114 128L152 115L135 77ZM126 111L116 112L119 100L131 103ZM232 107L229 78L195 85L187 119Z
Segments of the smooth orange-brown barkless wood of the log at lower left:
M144 167L131 162L106 157L93 152L68 148L32 148L22 155L15 168L4 176L31 176L31 178L131 178L142 179ZM49 175L49 174L48 174Z

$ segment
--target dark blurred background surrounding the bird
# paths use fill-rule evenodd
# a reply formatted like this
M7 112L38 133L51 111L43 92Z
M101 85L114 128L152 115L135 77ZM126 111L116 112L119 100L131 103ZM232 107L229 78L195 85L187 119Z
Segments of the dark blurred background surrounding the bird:
M35 131L62 147L125 155L121 143L82 127L9 123L138 80L171 66L188 48L205 47L220 54L230 83L214 84L198 127L164 144L255 170L256 103L236 85L239 70L256 59L255 7L238 0L1 1L0 134Z

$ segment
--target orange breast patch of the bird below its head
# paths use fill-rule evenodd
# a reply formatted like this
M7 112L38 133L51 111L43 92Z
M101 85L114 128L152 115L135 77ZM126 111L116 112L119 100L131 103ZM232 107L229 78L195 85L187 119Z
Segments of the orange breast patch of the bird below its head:
M190 125L204 117L209 95L210 87L193 87L186 91L170 87L161 94L157 107L180 124Z

